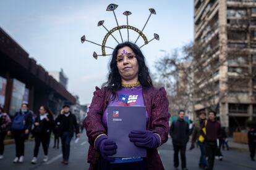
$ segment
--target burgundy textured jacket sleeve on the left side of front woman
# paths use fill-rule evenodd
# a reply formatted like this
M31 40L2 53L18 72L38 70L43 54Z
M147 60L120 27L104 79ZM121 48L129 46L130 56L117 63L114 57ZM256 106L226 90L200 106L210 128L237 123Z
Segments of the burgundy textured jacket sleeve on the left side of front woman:
M100 134L106 134L106 129L101 123L103 110L105 108L105 89L96 87L93 92L92 103L89 107L87 117L83 120L83 126L87 131L88 142L94 147L95 139Z

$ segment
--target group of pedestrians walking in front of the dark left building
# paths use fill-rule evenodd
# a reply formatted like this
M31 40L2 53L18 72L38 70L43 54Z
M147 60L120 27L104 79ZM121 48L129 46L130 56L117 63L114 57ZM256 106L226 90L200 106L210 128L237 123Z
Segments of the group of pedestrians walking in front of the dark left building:
M48 161L48 149L51 139L51 133L54 134L54 148L59 148L59 138L62 146L62 163L69 163L70 142L72 137L80 137L79 124L77 118L71 113L69 105L64 105L59 115L54 119L54 114L45 105L41 105L38 114L33 114L29 110L28 104L23 103L20 110L14 117L4 112L0 107L0 160L4 158L4 139L6 135L12 136L15 141L14 163L23 163L25 140L31 134L35 139L33 158L31 163L37 163L40 144L45 154L43 162Z

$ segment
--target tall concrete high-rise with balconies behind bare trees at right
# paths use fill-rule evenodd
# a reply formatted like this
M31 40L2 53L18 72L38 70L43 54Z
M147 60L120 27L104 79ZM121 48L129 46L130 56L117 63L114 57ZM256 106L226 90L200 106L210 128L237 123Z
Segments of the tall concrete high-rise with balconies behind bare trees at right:
M199 91L195 110L216 108L221 125L232 132L256 117L256 1L194 0L195 68ZM206 102L211 100L211 102Z

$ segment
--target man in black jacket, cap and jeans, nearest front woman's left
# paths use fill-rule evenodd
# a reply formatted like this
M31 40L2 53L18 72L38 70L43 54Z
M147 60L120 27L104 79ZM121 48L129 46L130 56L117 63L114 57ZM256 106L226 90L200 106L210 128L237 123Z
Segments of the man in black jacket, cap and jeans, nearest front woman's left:
M62 163L69 164L70 142L74 136L80 137L79 124L77 124L77 118L70 111L69 105L64 105L61 114L56 118L56 122L59 124L59 131L62 144ZM75 131L74 131L75 130Z

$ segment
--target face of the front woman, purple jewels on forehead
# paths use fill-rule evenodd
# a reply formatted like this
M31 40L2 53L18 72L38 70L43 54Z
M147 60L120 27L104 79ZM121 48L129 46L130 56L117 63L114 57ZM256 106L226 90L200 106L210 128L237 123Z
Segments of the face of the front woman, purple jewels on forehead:
M117 68L122 79L129 81L139 75L139 63L130 47L122 47L117 52Z

